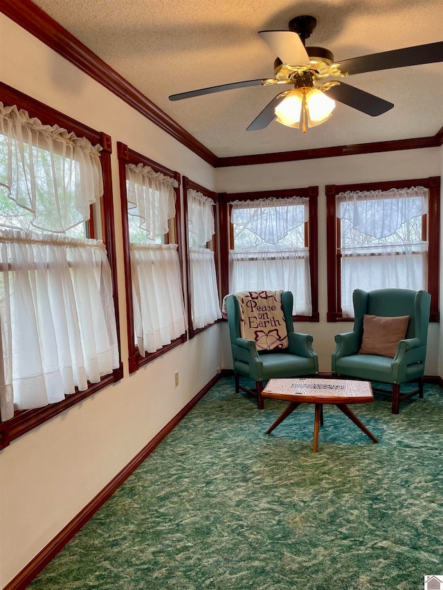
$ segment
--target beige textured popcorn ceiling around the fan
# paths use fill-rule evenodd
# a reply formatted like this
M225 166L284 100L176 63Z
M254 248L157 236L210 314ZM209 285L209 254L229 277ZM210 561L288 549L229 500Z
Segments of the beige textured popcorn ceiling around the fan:
M255 86L170 102L168 95L273 76L259 30L287 30L298 15L317 19L307 46L347 59L443 40L434 0L34 0L216 156L264 154L433 136L443 125L443 64L354 75L346 80L395 104L370 117L337 103L303 134L271 123L246 131L280 92Z

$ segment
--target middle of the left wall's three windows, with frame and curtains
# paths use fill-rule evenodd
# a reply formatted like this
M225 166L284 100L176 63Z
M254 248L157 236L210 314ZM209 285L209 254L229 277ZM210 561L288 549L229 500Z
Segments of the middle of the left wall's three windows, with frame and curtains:
M118 142L129 371L186 340L178 172Z

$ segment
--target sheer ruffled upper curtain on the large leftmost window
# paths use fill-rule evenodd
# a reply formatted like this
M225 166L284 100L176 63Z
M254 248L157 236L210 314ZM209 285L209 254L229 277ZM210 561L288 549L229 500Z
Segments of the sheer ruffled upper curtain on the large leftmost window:
M0 190L18 213L30 212L33 228L65 232L89 219L103 194L101 149L0 102ZM0 224L19 227L15 213L1 215Z

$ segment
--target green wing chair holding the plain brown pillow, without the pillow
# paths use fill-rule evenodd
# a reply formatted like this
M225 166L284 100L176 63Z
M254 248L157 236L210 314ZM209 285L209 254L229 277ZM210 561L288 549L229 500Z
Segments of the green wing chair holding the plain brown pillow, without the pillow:
M401 401L419 394L423 397L424 360L428 335L431 295L410 289L377 289L353 293L354 331L337 334L332 354L332 373L392 383L392 414L399 413ZM398 317L409 315L406 335L397 345L395 356L359 354L363 338L363 315ZM400 386L418 380L418 389L400 394Z

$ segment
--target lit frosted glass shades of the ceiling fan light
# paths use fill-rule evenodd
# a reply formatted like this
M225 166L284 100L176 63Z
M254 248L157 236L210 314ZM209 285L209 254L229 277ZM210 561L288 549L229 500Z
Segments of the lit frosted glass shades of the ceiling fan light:
M334 100L316 88L297 88L291 90L286 98L275 107L277 122L287 127L300 128L306 132L308 127L316 127L329 119L335 109Z

